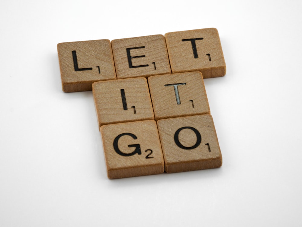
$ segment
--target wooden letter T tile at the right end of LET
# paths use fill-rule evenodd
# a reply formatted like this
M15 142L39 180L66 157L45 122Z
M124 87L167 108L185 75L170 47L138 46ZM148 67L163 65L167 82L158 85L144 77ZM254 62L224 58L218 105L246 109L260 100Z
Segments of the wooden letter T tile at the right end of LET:
M216 28L165 34L172 73L200 71L204 78L226 74L226 63Z

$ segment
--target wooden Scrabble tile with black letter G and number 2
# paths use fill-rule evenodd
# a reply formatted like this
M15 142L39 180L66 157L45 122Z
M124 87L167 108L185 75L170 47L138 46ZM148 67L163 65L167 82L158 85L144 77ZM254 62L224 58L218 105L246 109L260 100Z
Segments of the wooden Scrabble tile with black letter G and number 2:
M104 125L101 135L109 179L164 172L154 120Z

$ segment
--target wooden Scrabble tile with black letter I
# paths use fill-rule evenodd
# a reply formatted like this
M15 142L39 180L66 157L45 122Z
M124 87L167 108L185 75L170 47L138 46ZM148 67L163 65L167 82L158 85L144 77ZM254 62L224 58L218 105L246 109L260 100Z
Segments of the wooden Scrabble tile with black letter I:
M99 127L127 121L154 120L147 79L129 78L92 84Z

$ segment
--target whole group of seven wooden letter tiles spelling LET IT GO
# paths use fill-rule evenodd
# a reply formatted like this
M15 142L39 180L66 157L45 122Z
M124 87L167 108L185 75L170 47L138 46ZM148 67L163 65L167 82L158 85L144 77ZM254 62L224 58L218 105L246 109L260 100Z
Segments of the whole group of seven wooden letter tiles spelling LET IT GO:
M203 81L226 74L217 29L57 48L63 91L93 92L109 179L222 165Z

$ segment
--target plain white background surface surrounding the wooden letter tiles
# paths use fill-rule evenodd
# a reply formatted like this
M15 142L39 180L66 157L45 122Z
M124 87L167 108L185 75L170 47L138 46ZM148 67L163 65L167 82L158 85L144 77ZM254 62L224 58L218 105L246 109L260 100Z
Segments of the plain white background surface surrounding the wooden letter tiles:
M0 226L301 226L301 1L0 3ZM92 92L56 44L218 29L220 169L107 178Z

